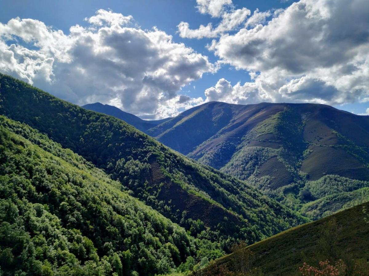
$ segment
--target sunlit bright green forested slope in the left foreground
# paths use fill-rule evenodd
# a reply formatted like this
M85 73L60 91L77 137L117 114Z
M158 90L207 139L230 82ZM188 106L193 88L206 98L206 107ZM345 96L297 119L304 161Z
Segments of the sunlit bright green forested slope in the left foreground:
M1 275L155 275L196 257L207 241L121 191L92 163L4 116L0 183ZM220 250L207 244L210 256Z

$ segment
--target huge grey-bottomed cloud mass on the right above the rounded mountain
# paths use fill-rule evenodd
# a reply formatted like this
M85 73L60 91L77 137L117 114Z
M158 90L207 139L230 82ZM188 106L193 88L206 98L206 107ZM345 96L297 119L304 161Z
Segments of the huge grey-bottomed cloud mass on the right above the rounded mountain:
M255 11L244 28L224 33L208 49L221 63L249 72L252 82L243 86L256 86L253 99L364 102L369 98L368 14L367 0L301 0L273 14ZM209 95L224 93L217 85L209 89ZM234 89L227 91L222 98L235 102Z

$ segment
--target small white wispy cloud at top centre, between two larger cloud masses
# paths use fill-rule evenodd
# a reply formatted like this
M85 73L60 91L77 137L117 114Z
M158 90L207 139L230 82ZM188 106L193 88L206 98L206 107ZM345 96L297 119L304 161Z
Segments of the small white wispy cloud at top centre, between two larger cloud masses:
M197 8L201 13L221 17L222 20L215 28L209 23L206 26L200 25L197 29L191 29L189 23L182 21L177 25L179 36L182 38L216 38L237 28L251 14L251 11L247 8L235 10L231 0L197 0L197 4L199 4ZM225 9L227 6L231 7L229 11Z

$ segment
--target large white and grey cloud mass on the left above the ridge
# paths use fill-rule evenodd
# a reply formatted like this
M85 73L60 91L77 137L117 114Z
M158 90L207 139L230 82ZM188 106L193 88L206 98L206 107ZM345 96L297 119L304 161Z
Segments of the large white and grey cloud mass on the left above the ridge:
M73 103L115 103L144 117L198 103L177 92L217 66L163 31L128 27L131 20L98 10L69 34L32 19L0 23L0 71Z

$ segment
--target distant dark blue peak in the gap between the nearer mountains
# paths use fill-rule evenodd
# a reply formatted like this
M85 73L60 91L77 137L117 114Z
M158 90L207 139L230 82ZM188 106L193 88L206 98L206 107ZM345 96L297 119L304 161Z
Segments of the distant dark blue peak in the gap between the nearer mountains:
M89 103L82 107L88 110L92 110L92 111L96 111L96 112L100 112L100 113L104 113L107 115L117 117L118 119L121 119L130 125L133 125L135 128L141 131L146 131L149 128L155 127L156 125L164 123L171 119L171 118L165 118L162 120L145 121L133 114L120 110L118 107L111 106L111 105L103 105L102 103Z

